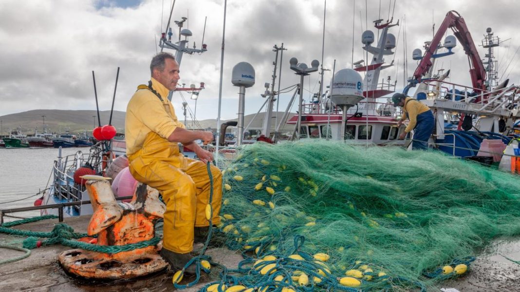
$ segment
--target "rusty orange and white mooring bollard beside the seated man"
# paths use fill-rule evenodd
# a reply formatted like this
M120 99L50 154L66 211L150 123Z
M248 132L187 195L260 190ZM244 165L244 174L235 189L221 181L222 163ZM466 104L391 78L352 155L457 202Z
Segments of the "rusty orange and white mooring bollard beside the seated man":
M159 191L140 184L132 202L122 207L115 201L107 180L90 179L86 183L94 210L87 229L97 234L98 245L125 245L151 240L155 221L163 218L165 205ZM159 256L158 246L147 246L116 254L83 249L63 251L59 262L67 272L84 278L103 280L128 279L161 271L167 263Z

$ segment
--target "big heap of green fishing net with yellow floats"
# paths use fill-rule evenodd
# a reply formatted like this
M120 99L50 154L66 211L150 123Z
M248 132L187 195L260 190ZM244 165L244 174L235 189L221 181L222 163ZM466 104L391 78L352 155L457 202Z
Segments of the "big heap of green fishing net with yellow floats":
M424 290L520 234L518 178L442 153L255 143L223 180L219 236L244 260L207 290Z

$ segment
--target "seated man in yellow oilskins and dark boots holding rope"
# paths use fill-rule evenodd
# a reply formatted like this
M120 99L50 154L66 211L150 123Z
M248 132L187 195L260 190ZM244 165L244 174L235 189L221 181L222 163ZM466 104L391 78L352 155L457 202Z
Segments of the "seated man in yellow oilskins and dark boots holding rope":
M150 63L151 81L140 85L128 102L125 120L126 155L133 177L158 189L166 204L161 256L172 269L180 270L193 257L194 242L204 242L209 231L205 207L209 203L210 179L207 162L213 155L196 140L211 142L213 133L186 129L178 121L168 93L179 80L175 58L160 52ZM189 147L200 161L179 153L177 143ZM222 174L211 166L213 175L213 224L220 219ZM194 265L185 272L195 273Z

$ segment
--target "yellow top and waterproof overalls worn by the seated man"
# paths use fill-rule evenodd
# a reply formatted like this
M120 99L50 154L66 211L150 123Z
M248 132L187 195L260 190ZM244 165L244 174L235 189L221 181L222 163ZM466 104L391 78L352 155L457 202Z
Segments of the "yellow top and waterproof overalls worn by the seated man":
M152 78L152 88L138 89L128 102L125 120L126 155L129 170L139 182L158 189L166 203L163 247L179 254L193 250L193 228L209 226L205 207L209 203L210 179L206 165L179 153L177 142L167 138L177 127L168 89ZM213 175L213 224L220 218L222 173Z

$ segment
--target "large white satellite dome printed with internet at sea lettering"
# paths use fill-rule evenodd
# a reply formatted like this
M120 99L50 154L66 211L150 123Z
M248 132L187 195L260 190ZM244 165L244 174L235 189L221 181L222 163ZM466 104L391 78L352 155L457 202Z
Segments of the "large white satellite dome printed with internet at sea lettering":
M363 99L363 79L353 69L342 69L334 74L330 98L335 105L354 105Z

